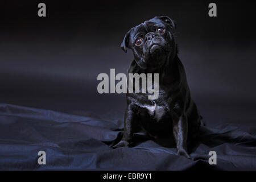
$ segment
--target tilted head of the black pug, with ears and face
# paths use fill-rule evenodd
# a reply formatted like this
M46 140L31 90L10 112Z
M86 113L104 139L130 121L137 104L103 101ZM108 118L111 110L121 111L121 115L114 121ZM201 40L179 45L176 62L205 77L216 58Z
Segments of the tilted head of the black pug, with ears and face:
M162 68L176 55L176 43L172 35L174 28L175 23L168 16L155 16L131 28L125 34L121 48L125 52L130 48L136 63L143 70Z

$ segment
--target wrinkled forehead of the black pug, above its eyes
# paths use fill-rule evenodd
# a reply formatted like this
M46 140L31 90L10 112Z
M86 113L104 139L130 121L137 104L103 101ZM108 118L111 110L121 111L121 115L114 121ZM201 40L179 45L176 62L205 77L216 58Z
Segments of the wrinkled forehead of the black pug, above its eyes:
M131 37L135 37L138 34L147 34L148 32L155 31L158 27L166 27L165 24L160 19L152 18L147 20L135 27L131 32Z

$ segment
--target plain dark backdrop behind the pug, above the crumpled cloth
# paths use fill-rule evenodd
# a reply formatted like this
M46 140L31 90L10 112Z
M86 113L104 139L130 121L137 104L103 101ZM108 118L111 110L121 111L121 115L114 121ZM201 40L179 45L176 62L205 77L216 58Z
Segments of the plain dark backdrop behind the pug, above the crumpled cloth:
M38 3L47 17L38 17ZM217 17L208 16L210 2ZM125 33L168 15L201 115L256 117L255 1L1 1L0 102L122 117L124 94L98 94L97 75L126 73Z

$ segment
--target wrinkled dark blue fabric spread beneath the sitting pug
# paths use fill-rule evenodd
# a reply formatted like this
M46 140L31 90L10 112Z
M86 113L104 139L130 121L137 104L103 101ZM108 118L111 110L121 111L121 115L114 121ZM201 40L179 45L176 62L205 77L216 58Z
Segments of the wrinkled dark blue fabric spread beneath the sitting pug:
M203 122L191 160L155 140L112 149L122 137L121 119L0 104L0 169L256 169L255 125L210 118ZM38 164L39 151L46 152L46 165ZM216 151L216 165L208 163L209 151Z

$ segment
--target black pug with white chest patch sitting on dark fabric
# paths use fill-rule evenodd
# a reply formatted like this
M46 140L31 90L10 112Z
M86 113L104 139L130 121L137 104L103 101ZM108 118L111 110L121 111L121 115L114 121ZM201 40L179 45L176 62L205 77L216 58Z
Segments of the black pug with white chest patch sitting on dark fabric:
M128 73L159 73L159 97L127 93L127 109L122 140L113 148L129 146L134 133L143 129L153 138L173 136L177 154L190 158L187 144L195 142L201 116L193 102L183 64L177 56L172 31L174 21L156 16L129 30L121 48L133 51Z

